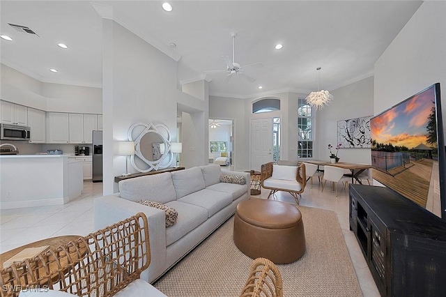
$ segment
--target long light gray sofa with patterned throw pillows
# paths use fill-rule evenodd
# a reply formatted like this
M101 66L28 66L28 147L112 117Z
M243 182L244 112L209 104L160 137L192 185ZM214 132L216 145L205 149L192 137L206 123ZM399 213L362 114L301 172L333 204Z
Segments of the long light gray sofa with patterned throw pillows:
M249 198L249 184L249 173L222 172L218 165L125 179L119 193L95 199L95 229L145 213L151 264L141 279L152 283L235 213L237 204ZM166 227L165 212L137 203L141 199L174 208L176 224Z

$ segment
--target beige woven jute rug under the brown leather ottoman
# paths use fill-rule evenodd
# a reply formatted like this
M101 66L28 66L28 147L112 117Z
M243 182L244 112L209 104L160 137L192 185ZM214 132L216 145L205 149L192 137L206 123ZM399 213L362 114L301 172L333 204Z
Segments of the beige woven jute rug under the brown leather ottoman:
M279 265L284 296L362 296L337 215L298 206L307 250ZM233 243L233 217L180 261L154 286L169 297L239 296L252 259Z

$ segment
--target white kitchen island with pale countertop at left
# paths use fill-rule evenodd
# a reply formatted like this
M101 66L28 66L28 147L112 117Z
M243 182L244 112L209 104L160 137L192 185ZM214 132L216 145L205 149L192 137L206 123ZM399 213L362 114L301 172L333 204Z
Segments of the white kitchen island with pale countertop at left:
M0 155L0 209L66 204L82 194L82 161L68 155Z

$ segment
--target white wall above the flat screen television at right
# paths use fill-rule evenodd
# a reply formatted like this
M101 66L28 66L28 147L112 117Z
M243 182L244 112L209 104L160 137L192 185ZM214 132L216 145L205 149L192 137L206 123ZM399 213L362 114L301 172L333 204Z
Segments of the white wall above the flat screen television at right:
M375 63L375 114L440 82L446 132L446 2L424 1Z

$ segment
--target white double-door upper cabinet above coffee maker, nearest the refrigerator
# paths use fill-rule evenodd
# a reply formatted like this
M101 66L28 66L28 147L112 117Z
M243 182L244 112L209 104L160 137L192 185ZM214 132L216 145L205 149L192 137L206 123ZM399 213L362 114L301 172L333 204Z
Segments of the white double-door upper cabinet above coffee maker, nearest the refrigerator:
M98 130L97 114L70 114L70 144L91 144L92 131Z

